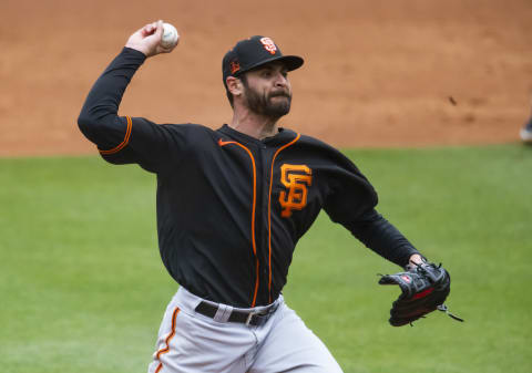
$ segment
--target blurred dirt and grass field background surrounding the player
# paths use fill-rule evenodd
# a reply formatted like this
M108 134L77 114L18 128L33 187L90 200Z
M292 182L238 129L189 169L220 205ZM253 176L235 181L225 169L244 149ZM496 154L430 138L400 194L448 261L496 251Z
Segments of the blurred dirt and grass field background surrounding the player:
M398 289L376 273L398 267L320 215L284 294L346 373L531 371L532 0L0 0L1 372L145 372L177 287L156 180L105 164L76 118L158 19L180 45L141 68L121 115L229 122L222 58L268 35L306 60L283 125L340 147L379 213L449 269L466 322L391 328Z

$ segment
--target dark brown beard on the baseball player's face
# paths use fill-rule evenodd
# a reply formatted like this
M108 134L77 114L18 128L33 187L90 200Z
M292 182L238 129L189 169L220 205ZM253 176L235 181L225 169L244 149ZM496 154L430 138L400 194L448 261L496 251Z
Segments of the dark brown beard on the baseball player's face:
M265 93L263 95L258 94L247 84L245 85L245 90L247 107L256 114L278 120L290 111L291 95L284 90L270 94ZM273 102L272 99L277 96L285 99Z

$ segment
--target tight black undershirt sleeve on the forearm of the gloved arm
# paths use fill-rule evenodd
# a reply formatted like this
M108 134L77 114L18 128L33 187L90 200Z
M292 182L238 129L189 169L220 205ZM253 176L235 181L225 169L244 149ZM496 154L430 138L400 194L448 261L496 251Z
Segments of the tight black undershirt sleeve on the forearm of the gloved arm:
M412 244L375 209L344 226L368 248L400 267L408 265L413 253L419 253Z

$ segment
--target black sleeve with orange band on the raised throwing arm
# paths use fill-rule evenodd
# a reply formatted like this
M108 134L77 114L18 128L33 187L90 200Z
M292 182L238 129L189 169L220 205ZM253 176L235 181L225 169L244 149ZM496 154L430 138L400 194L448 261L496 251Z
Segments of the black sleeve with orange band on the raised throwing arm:
M158 125L146 118L119 116L119 105L134 73L145 61L143 53L124 48L94 83L78 118L83 135L112 164L136 163L150 172L164 167L172 152L185 146L186 131L178 125Z

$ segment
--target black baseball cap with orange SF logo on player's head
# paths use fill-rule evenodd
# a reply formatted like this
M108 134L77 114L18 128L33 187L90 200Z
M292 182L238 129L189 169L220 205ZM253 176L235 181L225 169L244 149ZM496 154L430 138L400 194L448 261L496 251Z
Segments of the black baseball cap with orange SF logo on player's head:
M241 40L224 55L222 72L224 85L227 76L238 76L273 61L283 62L288 71L303 65L304 60L297 55L283 55L280 49L267 37L255 35Z

